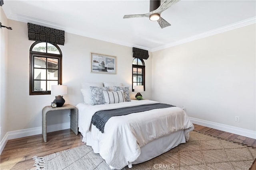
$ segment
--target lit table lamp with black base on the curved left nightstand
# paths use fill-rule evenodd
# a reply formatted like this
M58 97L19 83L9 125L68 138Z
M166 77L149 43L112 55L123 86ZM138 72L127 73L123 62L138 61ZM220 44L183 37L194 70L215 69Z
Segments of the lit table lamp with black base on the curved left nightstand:
M57 107L62 107L64 105L65 100L63 96L60 96L60 95L68 94L67 89L68 88L66 85L52 85L51 94L58 95L58 96L55 96L55 99L54 99L54 102L56 102Z

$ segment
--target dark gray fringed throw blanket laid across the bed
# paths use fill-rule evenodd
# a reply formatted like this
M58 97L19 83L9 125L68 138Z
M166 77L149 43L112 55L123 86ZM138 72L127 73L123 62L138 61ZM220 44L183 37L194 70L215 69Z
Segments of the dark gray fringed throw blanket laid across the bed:
M94 113L92 116L92 124L96 126L102 133L104 133L104 127L108 119L112 116L128 115L130 113L137 113L142 111L148 111L152 109L162 109L166 107L175 107L170 104L148 104L141 106L124 107L112 110L101 110Z

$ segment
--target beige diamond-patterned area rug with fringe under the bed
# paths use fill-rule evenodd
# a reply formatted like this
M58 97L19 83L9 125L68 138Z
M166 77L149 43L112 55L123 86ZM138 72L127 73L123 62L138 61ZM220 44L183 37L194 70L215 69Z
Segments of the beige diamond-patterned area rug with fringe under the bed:
M187 143L123 170L248 170L256 159L256 148L233 143L196 131ZM82 145L42 158L34 157L38 170L110 170L100 154Z

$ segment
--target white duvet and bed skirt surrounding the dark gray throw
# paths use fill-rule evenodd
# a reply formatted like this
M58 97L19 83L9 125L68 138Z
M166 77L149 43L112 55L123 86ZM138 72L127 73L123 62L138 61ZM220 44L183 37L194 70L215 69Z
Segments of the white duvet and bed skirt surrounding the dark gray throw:
M97 111L158 103L152 100L97 105L79 103L76 107L82 141L99 153L112 169L122 169L127 165L131 168L132 164L150 160L188 141L194 126L179 107L110 117L104 126L104 133L92 124L92 117Z

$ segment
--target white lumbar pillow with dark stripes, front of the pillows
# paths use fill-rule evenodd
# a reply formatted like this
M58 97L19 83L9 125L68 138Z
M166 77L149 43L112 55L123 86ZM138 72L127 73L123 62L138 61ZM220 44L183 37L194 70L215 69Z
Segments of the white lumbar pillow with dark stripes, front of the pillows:
M124 92L123 91L102 91L105 99L105 104L114 104L125 102L124 100Z

